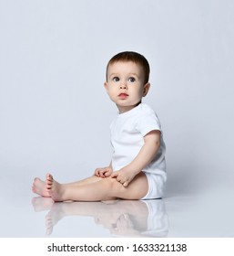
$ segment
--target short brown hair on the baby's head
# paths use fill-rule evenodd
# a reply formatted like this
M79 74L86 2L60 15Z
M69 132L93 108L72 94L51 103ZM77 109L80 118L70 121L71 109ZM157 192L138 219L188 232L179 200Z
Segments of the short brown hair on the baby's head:
M123 51L123 52L117 53L117 55L112 57L107 63L106 79L107 79L107 70L109 66L118 61L123 61L123 62L132 61L136 64L139 64L144 72L144 76L145 76L144 83L145 84L148 83L149 71L150 71L148 60L143 55L134 51Z

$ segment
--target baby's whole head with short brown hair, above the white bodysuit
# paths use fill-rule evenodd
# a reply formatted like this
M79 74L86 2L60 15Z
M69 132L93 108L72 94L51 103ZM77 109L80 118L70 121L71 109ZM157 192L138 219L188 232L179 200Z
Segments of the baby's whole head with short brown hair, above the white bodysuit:
M137 52L120 52L107 64L104 86L120 113L136 107L148 94L148 60Z

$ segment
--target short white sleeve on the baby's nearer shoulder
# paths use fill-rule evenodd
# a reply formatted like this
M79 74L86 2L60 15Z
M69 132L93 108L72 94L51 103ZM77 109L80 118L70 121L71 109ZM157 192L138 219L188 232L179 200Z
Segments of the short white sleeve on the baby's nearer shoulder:
M137 131L144 137L147 133L158 130L161 132L161 125L158 116L152 110L143 112L137 121Z

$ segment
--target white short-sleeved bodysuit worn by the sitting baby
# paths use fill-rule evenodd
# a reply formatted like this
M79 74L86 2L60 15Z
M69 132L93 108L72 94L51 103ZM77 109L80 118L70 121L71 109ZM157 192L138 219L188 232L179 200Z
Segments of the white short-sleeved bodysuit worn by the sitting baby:
M160 148L152 162L142 170L148 178L148 194L142 199L163 197L167 179L166 146L158 116L148 104L140 103L128 112L118 114L110 125L113 171L131 163L144 144L144 136L154 130L161 132Z

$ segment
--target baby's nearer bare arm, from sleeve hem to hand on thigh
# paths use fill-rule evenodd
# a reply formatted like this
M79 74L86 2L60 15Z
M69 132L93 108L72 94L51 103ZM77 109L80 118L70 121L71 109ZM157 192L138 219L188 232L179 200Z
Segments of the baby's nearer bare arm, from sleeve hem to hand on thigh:
M116 177L124 187L133 180L155 157L160 147L160 134L158 130L151 131L144 136L145 144L142 146L134 160L122 169L114 172L112 177Z

